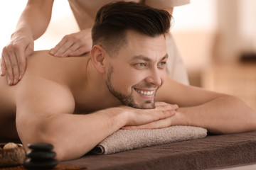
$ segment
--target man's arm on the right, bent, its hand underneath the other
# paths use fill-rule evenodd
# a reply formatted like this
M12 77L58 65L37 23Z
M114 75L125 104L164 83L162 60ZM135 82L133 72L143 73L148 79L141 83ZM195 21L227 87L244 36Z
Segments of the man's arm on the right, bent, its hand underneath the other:
M156 101L178 104L176 115L125 129L191 125L206 128L213 133L256 130L256 111L239 98L179 84L169 77L159 89Z

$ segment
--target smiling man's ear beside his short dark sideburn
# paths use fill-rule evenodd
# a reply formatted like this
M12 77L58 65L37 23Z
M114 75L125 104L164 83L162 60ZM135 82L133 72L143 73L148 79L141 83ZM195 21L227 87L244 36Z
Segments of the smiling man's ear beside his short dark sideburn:
M97 69L97 71L100 73L105 72L105 55L106 52L100 45L94 45L92 47L92 50L90 50L92 64L94 65L95 69Z

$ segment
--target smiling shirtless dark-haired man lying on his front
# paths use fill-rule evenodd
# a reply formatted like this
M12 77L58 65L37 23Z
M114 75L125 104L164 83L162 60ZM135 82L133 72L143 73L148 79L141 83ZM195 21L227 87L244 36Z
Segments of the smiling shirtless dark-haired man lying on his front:
M213 133L256 130L240 99L166 77L170 15L132 2L98 11L84 57L28 58L26 74L0 79L0 137L54 145L56 159L81 157L113 132L192 125ZM178 107L178 106L179 107Z

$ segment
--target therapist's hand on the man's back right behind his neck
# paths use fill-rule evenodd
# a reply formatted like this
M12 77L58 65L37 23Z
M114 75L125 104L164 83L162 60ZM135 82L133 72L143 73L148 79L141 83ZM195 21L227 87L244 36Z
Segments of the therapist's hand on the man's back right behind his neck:
M92 47L91 29L65 35L64 38L50 50L55 57L80 56L89 52Z

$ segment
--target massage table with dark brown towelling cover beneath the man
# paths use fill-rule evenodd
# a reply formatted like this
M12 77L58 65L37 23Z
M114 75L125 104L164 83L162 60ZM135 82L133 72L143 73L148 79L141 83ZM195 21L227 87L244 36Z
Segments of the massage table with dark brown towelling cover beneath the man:
M210 135L115 154L85 154L60 162L87 169L222 169L242 166L256 169L256 132ZM246 166L250 165L250 166Z

